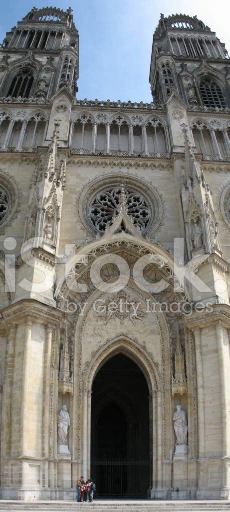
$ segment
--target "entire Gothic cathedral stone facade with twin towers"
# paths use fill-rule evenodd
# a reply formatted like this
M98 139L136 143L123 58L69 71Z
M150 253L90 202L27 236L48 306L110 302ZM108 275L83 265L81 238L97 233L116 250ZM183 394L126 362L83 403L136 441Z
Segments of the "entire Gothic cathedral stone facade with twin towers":
M1 496L230 499L230 65L160 15L151 103L76 99L72 10L0 46Z

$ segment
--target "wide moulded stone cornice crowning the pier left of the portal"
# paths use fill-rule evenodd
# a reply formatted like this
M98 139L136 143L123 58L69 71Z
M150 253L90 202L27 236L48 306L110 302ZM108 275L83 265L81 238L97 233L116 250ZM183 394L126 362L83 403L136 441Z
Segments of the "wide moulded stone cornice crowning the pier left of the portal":
M47 325L48 323L55 326L59 325L64 317L64 311L42 304L34 299L23 299L19 302L1 310L3 319L6 324L25 323L30 317L33 321Z

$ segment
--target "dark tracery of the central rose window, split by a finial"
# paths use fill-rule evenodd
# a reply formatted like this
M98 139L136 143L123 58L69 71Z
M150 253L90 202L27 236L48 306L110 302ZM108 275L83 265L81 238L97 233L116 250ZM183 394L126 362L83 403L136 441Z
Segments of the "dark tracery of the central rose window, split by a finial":
M134 225L144 231L150 221L150 207L144 197L131 188L125 188L128 215L132 216ZM90 220L98 231L103 232L106 224L110 224L113 215L118 214L121 187L110 188L99 192L89 207Z

